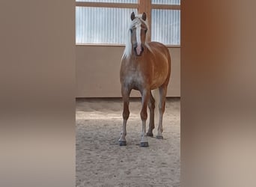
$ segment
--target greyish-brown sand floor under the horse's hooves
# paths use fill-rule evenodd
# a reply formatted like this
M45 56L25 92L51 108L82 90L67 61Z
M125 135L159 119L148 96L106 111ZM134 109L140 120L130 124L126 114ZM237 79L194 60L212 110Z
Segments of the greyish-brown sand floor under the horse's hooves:
M149 137L149 147L139 147L138 99L129 105L127 146L119 146L122 107L121 99L76 100L76 186L180 186L180 99L167 99L164 139Z

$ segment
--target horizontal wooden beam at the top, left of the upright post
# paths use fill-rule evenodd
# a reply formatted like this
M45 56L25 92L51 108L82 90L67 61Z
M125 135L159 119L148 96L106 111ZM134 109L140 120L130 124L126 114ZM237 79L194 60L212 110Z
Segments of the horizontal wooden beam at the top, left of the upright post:
M76 7L138 8L138 4L135 4L135 3L109 3L109 2L76 2Z

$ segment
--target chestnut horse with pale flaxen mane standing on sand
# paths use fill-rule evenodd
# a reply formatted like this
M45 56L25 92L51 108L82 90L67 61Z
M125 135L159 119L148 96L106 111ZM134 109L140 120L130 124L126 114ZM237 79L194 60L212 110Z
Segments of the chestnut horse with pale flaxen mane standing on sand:
M171 75L171 55L168 48L159 42L147 42L148 25L146 13L131 13L127 43L121 58L120 81L123 98L123 129L119 145L126 146L127 120L129 118L129 94L132 89L141 93L141 142L148 147L147 136L153 137L155 102L159 102L159 124L156 138L162 136L162 116L165 111L165 97ZM157 91L154 97L151 91ZM158 99L157 99L158 98ZM150 111L149 128L146 133L147 106Z

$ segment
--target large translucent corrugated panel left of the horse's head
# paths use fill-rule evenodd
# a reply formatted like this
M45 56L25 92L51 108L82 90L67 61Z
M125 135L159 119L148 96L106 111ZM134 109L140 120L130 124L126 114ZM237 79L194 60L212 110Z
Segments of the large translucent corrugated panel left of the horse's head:
M76 43L124 44L136 9L76 7Z

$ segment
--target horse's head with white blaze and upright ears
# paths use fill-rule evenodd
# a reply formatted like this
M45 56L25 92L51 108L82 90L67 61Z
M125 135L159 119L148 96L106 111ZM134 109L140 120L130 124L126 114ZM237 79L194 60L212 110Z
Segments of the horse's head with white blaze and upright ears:
M131 34L132 50L134 50L136 56L141 56L144 51L144 43L147 34L146 13L142 16L135 16L134 12L131 14L132 24L129 28Z

